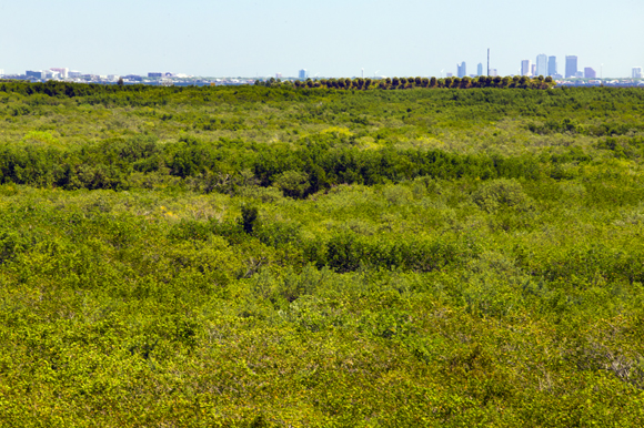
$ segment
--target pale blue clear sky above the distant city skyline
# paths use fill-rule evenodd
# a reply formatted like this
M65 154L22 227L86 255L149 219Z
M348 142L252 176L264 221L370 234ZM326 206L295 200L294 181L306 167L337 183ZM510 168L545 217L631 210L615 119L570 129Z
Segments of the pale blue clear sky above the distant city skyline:
M644 67L643 0L0 0L4 73L502 75L565 55L604 78ZM602 65L603 64L603 65Z

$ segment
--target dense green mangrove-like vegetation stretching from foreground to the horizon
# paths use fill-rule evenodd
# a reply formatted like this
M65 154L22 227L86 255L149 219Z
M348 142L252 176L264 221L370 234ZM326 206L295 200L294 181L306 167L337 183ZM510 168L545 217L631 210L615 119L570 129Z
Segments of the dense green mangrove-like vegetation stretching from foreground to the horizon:
M0 82L0 426L642 426L644 92L414 84Z

